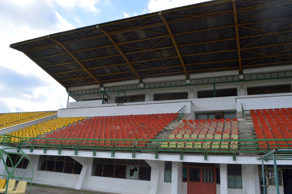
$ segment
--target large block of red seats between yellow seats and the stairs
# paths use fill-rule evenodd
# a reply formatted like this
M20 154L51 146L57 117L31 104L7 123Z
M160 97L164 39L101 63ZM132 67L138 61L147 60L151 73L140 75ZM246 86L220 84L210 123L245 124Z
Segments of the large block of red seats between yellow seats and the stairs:
M47 134L47 138L153 139L178 113L94 117Z

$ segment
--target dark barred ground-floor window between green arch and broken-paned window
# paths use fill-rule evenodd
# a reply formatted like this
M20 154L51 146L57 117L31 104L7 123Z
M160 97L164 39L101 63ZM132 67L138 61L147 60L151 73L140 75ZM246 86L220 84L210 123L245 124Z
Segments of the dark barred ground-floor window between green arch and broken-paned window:
M82 165L70 156L40 155L38 170L80 174Z

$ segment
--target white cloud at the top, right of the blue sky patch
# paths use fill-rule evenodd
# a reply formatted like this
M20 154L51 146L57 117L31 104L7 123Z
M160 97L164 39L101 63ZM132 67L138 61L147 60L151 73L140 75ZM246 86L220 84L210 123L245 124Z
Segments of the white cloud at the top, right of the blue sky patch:
M148 2L148 10L149 12L156 12L161 11L165 9L190 5L190 4L196 4L205 2L206 0L149 0Z

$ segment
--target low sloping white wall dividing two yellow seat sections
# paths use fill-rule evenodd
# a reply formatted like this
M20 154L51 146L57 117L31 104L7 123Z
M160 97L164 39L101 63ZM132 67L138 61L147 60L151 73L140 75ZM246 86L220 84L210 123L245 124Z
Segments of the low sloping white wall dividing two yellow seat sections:
M18 131L19 129L24 129L25 127L30 127L32 125L37 125L38 123L42 123L44 121L52 120L54 118L57 118L57 114L46 116L43 118L39 118L36 120L32 120L26 123L21 123L18 125L13 125L11 127L6 127L0 130L0 134L6 134L6 133L12 133L13 131Z

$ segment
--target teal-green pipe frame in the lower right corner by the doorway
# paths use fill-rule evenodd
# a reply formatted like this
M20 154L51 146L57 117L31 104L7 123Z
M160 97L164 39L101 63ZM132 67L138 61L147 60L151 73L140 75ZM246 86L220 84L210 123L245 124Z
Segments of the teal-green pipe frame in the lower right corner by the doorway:
M276 154L276 152L278 152L278 153L290 153L290 154ZM271 156L271 155L273 155L273 156ZM276 192L277 192L277 194L280 194L279 180L278 180L278 169L277 169L277 159L278 160L292 160L292 149L274 149L274 150L270 151L269 153L267 153L265 155L262 155L261 157L259 157L257 159L261 159L262 160L264 194L266 194L264 159L265 160L273 159L274 173L275 173L275 183L276 183Z

